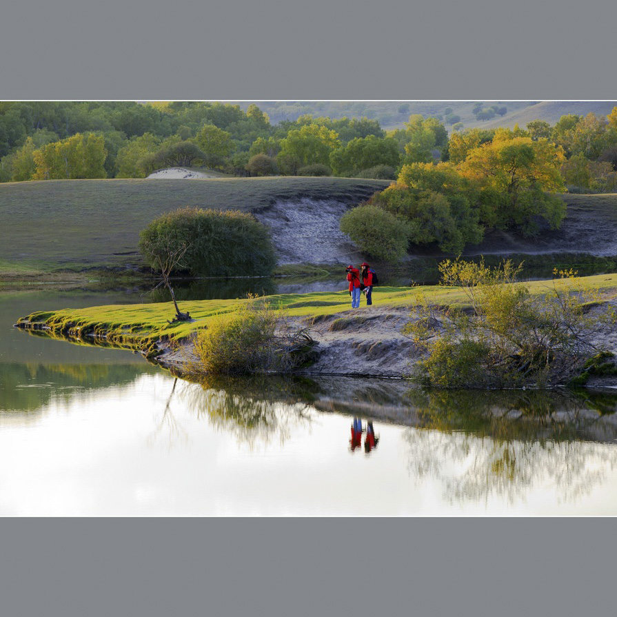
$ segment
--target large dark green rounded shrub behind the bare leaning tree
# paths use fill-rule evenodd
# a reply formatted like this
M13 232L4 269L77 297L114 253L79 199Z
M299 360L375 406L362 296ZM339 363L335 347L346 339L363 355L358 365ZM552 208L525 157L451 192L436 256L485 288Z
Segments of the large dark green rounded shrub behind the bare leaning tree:
M193 276L267 276L276 265L267 227L239 210L181 208L140 234L139 250L155 269L179 247L186 251L172 271Z

